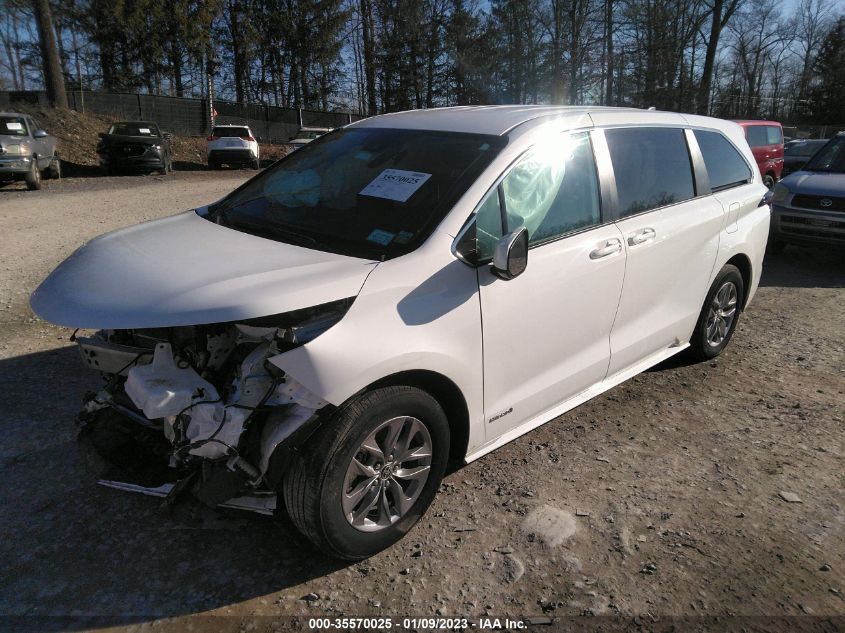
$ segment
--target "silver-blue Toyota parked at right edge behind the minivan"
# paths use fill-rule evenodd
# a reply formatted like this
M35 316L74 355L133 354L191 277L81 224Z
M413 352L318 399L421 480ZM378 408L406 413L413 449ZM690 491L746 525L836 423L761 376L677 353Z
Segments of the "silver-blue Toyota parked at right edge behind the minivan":
M845 132L775 185L769 250L787 244L845 245Z

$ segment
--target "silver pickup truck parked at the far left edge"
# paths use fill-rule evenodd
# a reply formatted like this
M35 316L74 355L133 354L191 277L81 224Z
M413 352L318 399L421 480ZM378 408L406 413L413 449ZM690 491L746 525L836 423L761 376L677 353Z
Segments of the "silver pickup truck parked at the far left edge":
M55 137L28 114L0 112L0 185L23 180L27 189L40 189L42 172L61 178Z

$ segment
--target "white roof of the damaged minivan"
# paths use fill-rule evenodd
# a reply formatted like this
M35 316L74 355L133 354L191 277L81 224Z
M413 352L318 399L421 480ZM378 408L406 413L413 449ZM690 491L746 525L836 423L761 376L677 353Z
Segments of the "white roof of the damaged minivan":
M677 117L679 125L691 124L688 117L681 114L667 113L637 108L612 108L604 106L544 106L544 105L498 105L498 106L455 106L448 108L430 108L426 110L408 110L392 114L362 119L347 127L379 127L394 129L429 130L443 132L468 132L501 136L517 126L542 125L549 118L569 118L573 120L584 115L606 113L623 115L636 113L633 117L643 124L643 118L654 116L655 122L666 122L667 117ZM705 117L695 117L696 124ZM708 119L719 121L719 119ZM722 121L721 123L724 123ZM714 125L713 127L721 127Z

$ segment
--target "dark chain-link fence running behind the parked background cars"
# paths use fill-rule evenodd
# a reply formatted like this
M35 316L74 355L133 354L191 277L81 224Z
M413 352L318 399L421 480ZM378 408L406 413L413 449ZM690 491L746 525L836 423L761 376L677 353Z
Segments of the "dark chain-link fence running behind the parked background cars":
M206 99L159 95L69 90L68 105L79 112L93 112L128 121L155 121L162 130L188 136L211 131ZM38 90L0 91L0 110L16 103L49 106L47 94ZM334 128L362 117L349 112L321 112L252 103L214 101L215 123L248 125L262 143L286 143L300 127Z

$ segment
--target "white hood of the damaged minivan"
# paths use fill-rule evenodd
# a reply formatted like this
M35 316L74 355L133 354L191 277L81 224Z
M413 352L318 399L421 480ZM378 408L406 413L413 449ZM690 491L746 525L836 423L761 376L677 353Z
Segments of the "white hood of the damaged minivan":
M189 211L98 237L30 298L67 327L239 321L354 297L377 262L275 242Z

